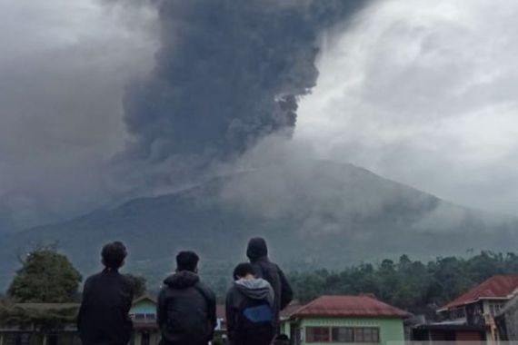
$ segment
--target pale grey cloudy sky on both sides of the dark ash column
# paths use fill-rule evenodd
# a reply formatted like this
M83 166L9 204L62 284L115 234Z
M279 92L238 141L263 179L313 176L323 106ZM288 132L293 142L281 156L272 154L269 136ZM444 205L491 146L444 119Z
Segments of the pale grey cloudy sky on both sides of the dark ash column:
M377 2L324 39L295 140L517 214L516 15L513 0ZM145 7L0 0L0 218L54 221L110 198L103 166L125 143L125 85L156 44Z

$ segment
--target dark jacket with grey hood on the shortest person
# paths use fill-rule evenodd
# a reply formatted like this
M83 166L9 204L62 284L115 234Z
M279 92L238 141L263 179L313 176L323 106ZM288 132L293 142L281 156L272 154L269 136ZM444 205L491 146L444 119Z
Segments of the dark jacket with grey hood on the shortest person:
M264 303L274 308L274 290L264 279L239 280L226 294L226 330L229 345L270 345L274 338L274 320L259 322L253 329L246 329L243 320L244 308Z

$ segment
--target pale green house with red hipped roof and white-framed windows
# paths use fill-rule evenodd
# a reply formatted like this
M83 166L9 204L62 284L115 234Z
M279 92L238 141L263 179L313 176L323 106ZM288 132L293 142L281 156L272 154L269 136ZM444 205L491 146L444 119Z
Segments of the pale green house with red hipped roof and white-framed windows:
M371 296L322 296L290 316L290 338L295 345L403 342L408 316Z

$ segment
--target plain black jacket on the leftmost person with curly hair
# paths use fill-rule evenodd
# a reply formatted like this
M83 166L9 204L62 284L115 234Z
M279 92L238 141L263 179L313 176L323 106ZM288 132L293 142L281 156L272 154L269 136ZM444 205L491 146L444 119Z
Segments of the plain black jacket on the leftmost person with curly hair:
M128 315L133 296L133 282L118 271L106 269L88 278L77 319L83 344L127 344L133 330Z

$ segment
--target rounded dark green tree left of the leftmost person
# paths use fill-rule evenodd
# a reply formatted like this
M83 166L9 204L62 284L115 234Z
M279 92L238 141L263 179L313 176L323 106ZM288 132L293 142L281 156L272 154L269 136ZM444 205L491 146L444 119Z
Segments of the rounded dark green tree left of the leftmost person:
M22 260L7 294L20 302L74 301L83 280L68 258L55 247L39 247Z

